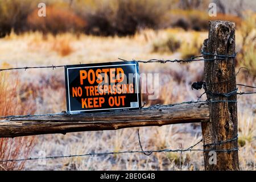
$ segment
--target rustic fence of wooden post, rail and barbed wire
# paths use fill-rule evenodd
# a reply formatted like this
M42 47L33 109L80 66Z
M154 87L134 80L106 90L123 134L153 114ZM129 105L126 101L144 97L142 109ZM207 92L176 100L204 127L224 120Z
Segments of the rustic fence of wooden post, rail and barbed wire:
M256 92L237 92L234 67L235 29L234 23L224 21L210 22L209 38L204 41L201 56L188 60L147 60L139 63L190 63L204 61L205 82L195 82L192 88L205 90L207 101L189 101L179 104L155 105L140 110L113 111L109 113L88 113L69 115L10 115L0 117L0 137L20 137L37 134L69 133L76 131L116 130L126 127L162 126L175 123L201 122L203 139L185 150L144 151L138 133L141 151L120 151L89 153L82 155L48 156L46 158L27 158L2 160L18 162L21 160L70 158L75 156L112 155L124 153L142 153L151 155L154 152L204 151L206 170L239 170L238 137L237 137L237 94L254 94ZM202 58L203 57L203 58ZM121 59L123 60L123 59ZM123 60L126 61L126 60ZM48 67L23 67L13 69L59 68L64 65ZM255 88L254 86L249 86ZM203 149L193 149L203 142ZM209 152L217 152L217 164L209 164Z

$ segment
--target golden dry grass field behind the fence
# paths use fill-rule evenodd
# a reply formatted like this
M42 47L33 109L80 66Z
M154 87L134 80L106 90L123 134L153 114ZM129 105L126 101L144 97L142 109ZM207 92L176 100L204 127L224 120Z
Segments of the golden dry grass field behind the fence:
M203 40L208 32L183 31L181 29L144 30L134 36L90 36L27 32L22 35L12 33L0 39L0 67L24 67L38 65L86 64L118 61L118 57L126 60L147 59L184 59L190 55L199 55ZM166 51L167 40L171 44L179 42L171 52ZM240 48L242 36L237 31L237 48ZM167 47L166 47L167 44ZM238 60L239 61L239 60ZM139 64L141 73L159 73L158 100L147 100L146 106L152 104L174 104L176 102L197 100L203 90L192 90L191 84L203 80L204 63L150 63ZM237 67L239 68L239 67ZM255 69L255 68L254 68ZM238 69L236 70L238 71ZM237 75L237 83L255 85L255 77L247 77L241 71ZM0 91L2 105L5 98L11 111L1 111L1 115L9 114L44 114L59 113L65 108L64 69L28 69L26 71L1 72ZM1 88L1 87L0 87ZM251 92L252 89L239 87L239 91ZM11 90L15 90L11 93ZM2 94L2 95L1 95ZM10 98L11 97L11 98ZM255 94L238 96L238 129L239 159L243 170L255 170L256 125ZM204 100L202 98L202 100ZM163 148L187 148L201 139L201 126L198 124L170 125L162 127L142 127L139 129L144 150ZM81 133L49 134L32 137L34 148L29 156L38 156L40 151L46 155L72 155L89 152L140 150L137 129L121 129L116 131L92 131ZM15 139L7 142L15 143ZM28 141L31 138L27 138ZM26 144L25 142L23 142ZM22 143L22 144L23 144ZM197 148L202 148L197 146ZM13 150L10 148L10 151ZM20 148L16 158L27 153ZM5 151L7 152L7 150ZM26 154L27 155L27 154ZM7 156L11 158L11 156ZM9 169L3 164L0 169ZM86 156L65 159L49 159L46 164L38 161L24 163L25 170L203 170L203 152L160 153L146 156L143 154L121 154Z

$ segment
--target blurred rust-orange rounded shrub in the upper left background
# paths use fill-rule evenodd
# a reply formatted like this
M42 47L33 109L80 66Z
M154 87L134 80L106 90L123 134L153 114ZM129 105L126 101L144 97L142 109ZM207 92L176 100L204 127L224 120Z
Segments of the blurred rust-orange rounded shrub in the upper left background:
M27 17L27 24L32 30L42 31L44 34L51 32L56 35L59 32L84 31L86 22L73 11L65 7L47 6L46 17L39 17L35 9Z

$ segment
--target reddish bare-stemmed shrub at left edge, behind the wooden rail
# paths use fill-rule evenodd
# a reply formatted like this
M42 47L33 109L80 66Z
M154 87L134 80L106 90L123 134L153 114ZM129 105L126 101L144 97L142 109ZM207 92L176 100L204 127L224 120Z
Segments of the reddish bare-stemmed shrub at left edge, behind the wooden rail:
M23 107L15 99L17 96L16 85L18 80L13 81L8 75L0 73L0 115L19 115L27 114L31 107ZM10 82L13 85L10 85ZM7 84L8 83L8 84ZM18 137L14 139L0 138L0 160L27 158L34 147L34 137ZM20 170L23 169L25 162L6 162L1 163L1 170Z

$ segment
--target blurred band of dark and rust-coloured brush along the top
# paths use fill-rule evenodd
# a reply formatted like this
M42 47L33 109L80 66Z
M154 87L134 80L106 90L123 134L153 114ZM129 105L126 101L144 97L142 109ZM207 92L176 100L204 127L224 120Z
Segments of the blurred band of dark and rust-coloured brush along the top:
M40 18L38 3L47 6L47 18ZM208 16L210 2L218 16ZM84 32L94 35L134 35L143 28L181 27L207 30L209 20L230 20L241 26L244 11L255 12L255 1L201 0L0 0L2 36L29 30L42 32ZM232 8L233 7L233 8Z

